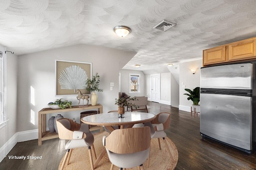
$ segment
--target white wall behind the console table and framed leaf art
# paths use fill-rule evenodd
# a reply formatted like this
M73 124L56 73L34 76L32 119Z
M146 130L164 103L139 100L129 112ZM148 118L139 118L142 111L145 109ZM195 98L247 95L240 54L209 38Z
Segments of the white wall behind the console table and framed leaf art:
M100 88L96 92L98 103L103 111L116 110L115 98L118 97L119 70L128 63L135 53L97 47L92 45L73 45L18 57L18 120L17 131L38 129L38 111L48 107L49 102L58 98L78 104L74 96L55 96L55 59L92 63L92 73L100 75ZM114 82L110 91L110 82ZM30 88L34 88L35 104L30 101ZM90 103L89 103L90 104ZM64 117L75 118L80 122L80 112L63 113ZM54 114L48 114L47 120Z

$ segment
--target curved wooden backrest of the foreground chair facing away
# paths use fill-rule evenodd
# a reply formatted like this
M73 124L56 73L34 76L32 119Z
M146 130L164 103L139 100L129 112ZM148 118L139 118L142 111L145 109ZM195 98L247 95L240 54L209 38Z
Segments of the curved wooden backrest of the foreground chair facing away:
M105 138L105 147L111 152L129 154L150 147L150 127L116 129Z

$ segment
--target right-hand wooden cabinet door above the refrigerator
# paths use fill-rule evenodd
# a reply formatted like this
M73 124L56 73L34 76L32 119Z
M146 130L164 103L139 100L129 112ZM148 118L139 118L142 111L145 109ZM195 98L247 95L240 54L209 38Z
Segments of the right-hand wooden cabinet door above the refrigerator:
M256 58L256 39L238 41L228 45L228 61Z

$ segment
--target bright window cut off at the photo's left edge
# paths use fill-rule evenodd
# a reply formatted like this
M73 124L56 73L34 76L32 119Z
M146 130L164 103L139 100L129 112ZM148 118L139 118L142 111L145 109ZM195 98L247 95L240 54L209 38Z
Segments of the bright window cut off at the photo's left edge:
M3 55L2 51L0 51L0 109L1 109L1 115L0 115L0 123L5 121L5 115L4 115L4 69L3 69Z

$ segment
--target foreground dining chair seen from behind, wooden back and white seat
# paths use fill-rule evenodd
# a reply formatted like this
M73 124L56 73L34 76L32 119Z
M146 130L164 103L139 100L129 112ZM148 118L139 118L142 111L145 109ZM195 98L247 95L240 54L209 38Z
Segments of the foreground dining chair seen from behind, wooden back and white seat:
M144 170L143 162L150 150L150 127L116 129L102 141L112 163L110 170L114 165L120 170L136 166L138 170Z

